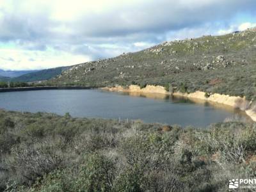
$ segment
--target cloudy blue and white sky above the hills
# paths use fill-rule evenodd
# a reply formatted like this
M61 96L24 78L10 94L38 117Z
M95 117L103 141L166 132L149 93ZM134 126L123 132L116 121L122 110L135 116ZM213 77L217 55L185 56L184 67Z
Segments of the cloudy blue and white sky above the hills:
M0 0L0 68L75 65L253 26L255 0Z

